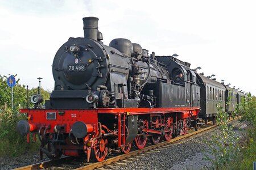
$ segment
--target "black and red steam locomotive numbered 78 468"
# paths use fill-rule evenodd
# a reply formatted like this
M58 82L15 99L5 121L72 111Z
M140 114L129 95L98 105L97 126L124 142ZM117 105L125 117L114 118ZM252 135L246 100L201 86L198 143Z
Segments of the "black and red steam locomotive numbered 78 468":
M98 18L83 22L84 37L70 37L53 59L55 89L45 108L36 94L34 108L20 109L27 120L18 122L18 131L28 142L38 135L41 158L86 154L88 162L101 162L108 153L128 153L132 144L142 149L147 139L156 145L186 134L196 127L202 104L203 112L211 112L204 103L208 98L200 96L209 94L208 78L188 62L148 54L127 39L105 45Z

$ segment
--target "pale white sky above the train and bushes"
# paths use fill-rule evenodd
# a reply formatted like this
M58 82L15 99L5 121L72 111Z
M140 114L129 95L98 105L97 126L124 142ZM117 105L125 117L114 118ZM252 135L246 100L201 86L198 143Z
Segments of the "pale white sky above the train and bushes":
M126 38L156 55L177 53L256 95L256 1L11 1L0 0L0 74L52 90L52 61L69 37L84 35L82 18L96 16L104 44Z

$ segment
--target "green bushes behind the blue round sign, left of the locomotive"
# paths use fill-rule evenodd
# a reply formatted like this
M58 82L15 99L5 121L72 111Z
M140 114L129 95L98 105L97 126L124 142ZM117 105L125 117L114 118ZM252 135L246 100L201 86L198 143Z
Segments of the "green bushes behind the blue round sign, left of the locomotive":
M26 114L19 113L19 108L26 108L27 88L19 84L13 87L13 111L11 111L11 88L7 85L7 76L0 75L0 156L17 156L28 150L39 148L39 142L28 144L27 137L21 137L16 131L19 120L26 120ZM41 90L44 99L49 99L49 92ZM37 93L37 88L28 91L28 96ZM29 107L33 104L29 102ZM31 137L32 141L32 137Z

